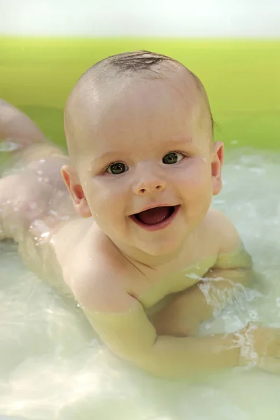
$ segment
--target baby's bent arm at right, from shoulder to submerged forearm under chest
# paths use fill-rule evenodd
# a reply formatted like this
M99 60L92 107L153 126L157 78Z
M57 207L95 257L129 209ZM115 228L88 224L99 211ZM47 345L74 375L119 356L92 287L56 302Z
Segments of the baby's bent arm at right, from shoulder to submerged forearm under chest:
M153 315L153 325L160 334L197 335L199 324L238 300L253 279L251 257L237 231L225 216L217 216L222 235L216 263L202 281L175 295L167 307Z

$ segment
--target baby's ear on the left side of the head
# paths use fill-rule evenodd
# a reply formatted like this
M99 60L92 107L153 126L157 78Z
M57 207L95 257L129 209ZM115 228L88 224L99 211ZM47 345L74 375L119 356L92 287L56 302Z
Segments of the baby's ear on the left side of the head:
M62 178L72 197L73 206L82 217L92 216L90 207L88 207L83 187L78 181L78 176L74 169L70 166L63 166L61 169Z

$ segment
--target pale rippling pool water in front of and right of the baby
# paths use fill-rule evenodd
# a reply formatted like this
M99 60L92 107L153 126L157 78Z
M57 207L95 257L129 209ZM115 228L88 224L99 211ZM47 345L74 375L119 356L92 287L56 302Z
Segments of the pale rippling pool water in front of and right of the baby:
M280 155L250 151L228 158L214 203L237 226L262 285L202 333L248 319L280 325L278 162ZM237 369L188 384L128 367L99 344L72 301L22 267L11 243L0 244L0 349L0 419L279 420L276 375Z

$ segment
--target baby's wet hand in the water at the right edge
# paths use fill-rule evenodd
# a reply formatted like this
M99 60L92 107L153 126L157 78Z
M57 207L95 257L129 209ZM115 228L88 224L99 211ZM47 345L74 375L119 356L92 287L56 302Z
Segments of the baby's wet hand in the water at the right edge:
M257 365L280 374L280 328L249 323L237 337L241 340L240 365Z

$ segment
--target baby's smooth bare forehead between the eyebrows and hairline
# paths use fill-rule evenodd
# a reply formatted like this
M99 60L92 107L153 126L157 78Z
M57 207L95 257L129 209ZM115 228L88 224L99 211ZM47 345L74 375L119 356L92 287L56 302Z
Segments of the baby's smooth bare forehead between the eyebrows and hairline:
M190 138L200 129L202 94L183 66L160 78L120 77L85 88L77 117L87 150Z

